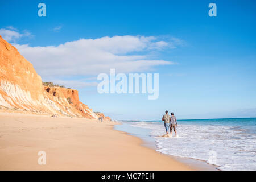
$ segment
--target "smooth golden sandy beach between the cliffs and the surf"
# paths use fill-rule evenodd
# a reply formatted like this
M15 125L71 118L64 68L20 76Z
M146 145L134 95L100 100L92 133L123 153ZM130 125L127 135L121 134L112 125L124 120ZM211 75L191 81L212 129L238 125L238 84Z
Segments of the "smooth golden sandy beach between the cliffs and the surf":
M0 170L193 170L113 129L117 122L0 113ZM39 151L46 165L39 165Z

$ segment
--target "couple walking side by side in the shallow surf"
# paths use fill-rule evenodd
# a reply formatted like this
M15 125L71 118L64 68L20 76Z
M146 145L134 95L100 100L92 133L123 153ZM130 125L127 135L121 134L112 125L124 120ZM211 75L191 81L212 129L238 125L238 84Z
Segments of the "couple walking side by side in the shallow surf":
M164 127L166 127L166 133L169 134L169 128L172 135L172 129L174 129L175 135L177 135L176 127L177 121L174 113L171 113L171 116L168 114L168 110L166 110L166 114L163 115L162 121L164 121Z

